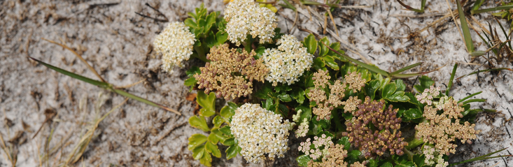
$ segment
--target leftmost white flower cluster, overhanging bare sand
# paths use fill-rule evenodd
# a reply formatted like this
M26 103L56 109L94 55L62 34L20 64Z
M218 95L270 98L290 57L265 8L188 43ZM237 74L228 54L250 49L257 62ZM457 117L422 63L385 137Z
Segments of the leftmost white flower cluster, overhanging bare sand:
M163 69L172 73L174 66L182 67L182 60L188 60L192 54L195 35L183 22L170 23L153 41L157 53L162 53Z

